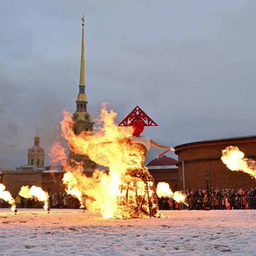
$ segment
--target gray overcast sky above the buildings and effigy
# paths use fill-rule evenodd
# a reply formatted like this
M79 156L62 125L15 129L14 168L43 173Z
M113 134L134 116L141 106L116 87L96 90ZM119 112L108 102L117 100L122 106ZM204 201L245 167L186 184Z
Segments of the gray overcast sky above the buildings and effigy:
M255 10L255 0L0 1L0 167L27 164L36 128L47 155L63 109L76 111L83 13L93 119L102 102L116 122L139 105L159 125L143 133L172 147L256 134ZM161 152L151 147L146 163Z

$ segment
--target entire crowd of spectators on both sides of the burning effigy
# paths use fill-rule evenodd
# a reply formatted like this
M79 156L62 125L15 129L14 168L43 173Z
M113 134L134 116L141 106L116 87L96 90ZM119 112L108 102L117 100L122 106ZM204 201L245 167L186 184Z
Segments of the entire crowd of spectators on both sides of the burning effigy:
M238 189L187 189L185 203L178 203L172 198L159 198L159 207L162 210L236 210L256 209L256 187ZM44 202L20 197L13 194L17 208L43 208ZM49 193L49 208L79 209L77 198L67 193ZM0 208L9 208L10 205L0 199Z

